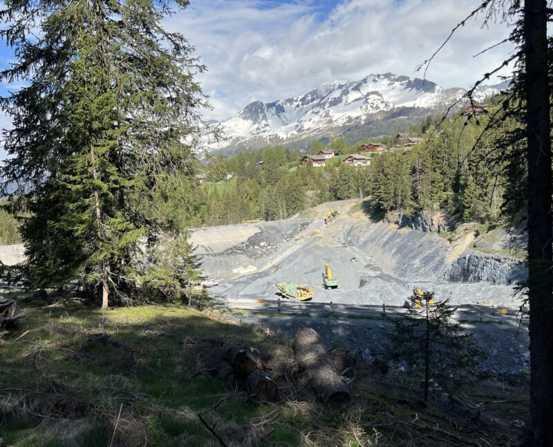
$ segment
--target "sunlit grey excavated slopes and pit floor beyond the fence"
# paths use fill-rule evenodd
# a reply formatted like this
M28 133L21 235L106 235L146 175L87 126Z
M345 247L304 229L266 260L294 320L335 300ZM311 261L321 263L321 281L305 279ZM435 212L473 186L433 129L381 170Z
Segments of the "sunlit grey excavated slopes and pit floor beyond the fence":
M212 294L271 300L278 297L275 283L290 281L312 285L319 303L402 305L413 287L423 287L455 305L521 304L512 288L525 278L520 261L469 249L471 233L451 243L437 234L373 222L353 205L355 200L320 205L310 220L194 231L191 240L205 274L220 283ZM336 208L340 216L325 225L324 211ZM225 244L216 236L220 231ZM325 260L339 279L338 289L322 286Z

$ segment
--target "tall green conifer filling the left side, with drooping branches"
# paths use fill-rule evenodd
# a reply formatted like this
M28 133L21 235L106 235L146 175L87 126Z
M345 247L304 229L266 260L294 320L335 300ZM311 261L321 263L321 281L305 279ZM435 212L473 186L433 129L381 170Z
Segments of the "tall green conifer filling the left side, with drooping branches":
M182 35L161 26L171 4L4 5L1 37L17 61L0 78L28 86L1 100L13 122L1 175L12 211L26 203L31 212L21 225L30 284L78 278L102 295L102 308L110 296L160 290L167 270L152 275L162 256L150 252L161 235L182 242L179 265L195 261L182 229L148 204L167 178L194 173L190 148L204 102L193 79L203 67ZM182 272L179 287L197 276L194 268Z

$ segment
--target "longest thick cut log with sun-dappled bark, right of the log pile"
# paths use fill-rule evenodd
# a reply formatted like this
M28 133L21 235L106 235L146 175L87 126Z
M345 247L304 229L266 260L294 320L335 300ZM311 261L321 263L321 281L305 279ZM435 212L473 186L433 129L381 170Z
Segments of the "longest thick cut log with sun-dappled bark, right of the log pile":
M350 390L330 363L330 356L317 331L302 327L294 337L292 350L319 399L337 406L350 400Z

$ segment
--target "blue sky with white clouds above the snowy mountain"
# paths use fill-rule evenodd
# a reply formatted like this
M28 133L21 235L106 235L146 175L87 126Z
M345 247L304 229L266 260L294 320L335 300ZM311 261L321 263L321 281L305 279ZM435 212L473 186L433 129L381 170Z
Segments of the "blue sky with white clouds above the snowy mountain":
M207 66L198 75L212 111L225 120L255 100L303 95L324 82L371 73L422 77L415 68L480 0L191 0L165 19ZM442 87L471 86L512 50L473 57L507 37L502 23L483 17L460 28L431 64L427 79ZM0 42L0 66L12 52ZM498 82L492 79L491 83ZM10 86L0 85L5 95ZM12 87L17 88L17 86ZM0 126L9 119L0 115Z

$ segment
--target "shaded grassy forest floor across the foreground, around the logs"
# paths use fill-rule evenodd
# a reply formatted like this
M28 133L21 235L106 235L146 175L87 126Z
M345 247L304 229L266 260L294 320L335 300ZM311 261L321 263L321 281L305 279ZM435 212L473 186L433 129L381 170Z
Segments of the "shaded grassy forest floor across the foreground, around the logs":
M195 374L182 342L208 334L268 354L281 402L256 405ZM198 413L227 446L507 446L520 434L512 422L527 411L525 377L451 379L468 407L444 390L425 407L418 377L362 363L353 403L328 408L294 379L290 344L177 306L30 307L0 341L0 438L18 447L221 446Z

